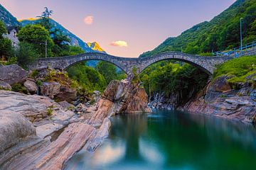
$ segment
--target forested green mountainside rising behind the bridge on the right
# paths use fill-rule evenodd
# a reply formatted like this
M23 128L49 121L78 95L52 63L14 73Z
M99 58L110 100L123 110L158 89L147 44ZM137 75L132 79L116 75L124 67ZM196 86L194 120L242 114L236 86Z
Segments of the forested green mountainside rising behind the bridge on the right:
M211 21L199 23L176 38L168 38L150 52L140 57L156 55L159 52L183 51L201 54L240 45L240 17L243 42L256 40L256 0L238 0Z

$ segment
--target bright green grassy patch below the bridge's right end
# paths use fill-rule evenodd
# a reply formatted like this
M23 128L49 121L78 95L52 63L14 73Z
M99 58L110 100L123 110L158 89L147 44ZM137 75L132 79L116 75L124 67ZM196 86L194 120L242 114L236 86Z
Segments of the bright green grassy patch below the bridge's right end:
M256 56L240 57L229 60L217 67L213 73L213 79L224 75L233 76L228 79L231 84L245 83L247 77L255 74L251 79L256 78Z

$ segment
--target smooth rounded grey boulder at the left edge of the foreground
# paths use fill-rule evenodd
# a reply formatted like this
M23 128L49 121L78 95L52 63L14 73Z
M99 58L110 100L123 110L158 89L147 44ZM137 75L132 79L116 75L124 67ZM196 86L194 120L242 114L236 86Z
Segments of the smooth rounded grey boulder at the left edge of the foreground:
M36 135L36 128L23 115L0 111L0 153L31 135Z

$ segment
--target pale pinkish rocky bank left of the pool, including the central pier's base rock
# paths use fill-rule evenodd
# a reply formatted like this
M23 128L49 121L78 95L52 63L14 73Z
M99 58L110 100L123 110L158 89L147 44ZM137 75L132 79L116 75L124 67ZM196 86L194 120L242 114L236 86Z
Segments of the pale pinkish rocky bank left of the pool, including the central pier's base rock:
M91 106L57 103L56 95L0 90L0 169L63 169L83 146L93 152L102 144L112 115L151 112L144 89L128 81L112 81Z

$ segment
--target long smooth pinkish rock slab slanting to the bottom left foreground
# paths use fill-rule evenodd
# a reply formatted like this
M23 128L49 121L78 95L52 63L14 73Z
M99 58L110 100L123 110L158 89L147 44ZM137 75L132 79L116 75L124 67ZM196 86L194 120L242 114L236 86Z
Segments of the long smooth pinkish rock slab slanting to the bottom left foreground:
M34 152L29 152L18 157L9 164L9 169L63 169L65 162L78 152L91 135L95 128L85 123L73 123L60 134L57 140L50 145Z

